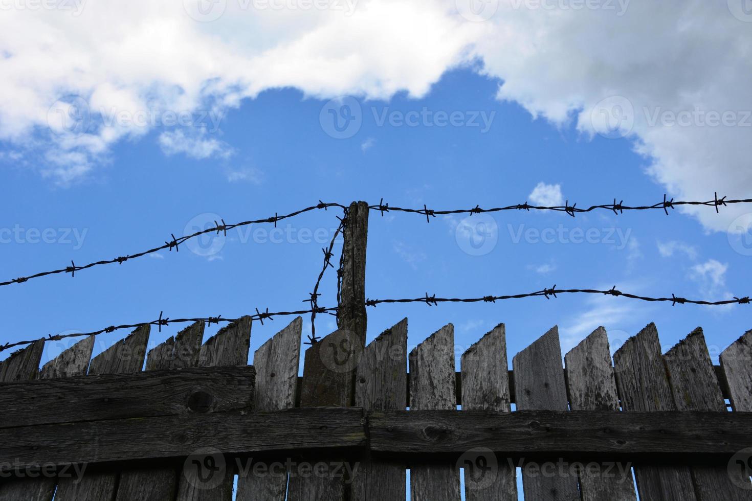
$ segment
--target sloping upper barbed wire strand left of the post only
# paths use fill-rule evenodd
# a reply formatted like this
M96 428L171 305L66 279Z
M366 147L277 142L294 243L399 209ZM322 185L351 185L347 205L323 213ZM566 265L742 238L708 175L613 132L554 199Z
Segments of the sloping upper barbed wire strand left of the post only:
M34 273L33 275L29 276L21 276L17 279L8 280L7 282L0 282L0 286L2 285L11 285L15 283L23 283L27 282L30 279L36 279L41 276L48 276L48 275L55 275L57 273L71 273L71 276L75 276L75 273L80 270L86 270L91 267L100 266L102 264L123 264L125 261L129 261L131 259L135 258L141 258L144 255L147 254L153 254L154 252L159 252L160 250L168 249L169 251L172 250L174 247L175 252L180 252L180 244L185 242L186 240L190 240L195 237L199 237L199 235L212 233L214 231L217 232L217 234L220 234L220 231L223 232L223 234L227 235L227 230L232 230L233 228L238 228L241 226L247 226L247 225L256 225L261 223L274 223L274 228L277 228L277 222L282 221L283 219L289 219L295 216L299 216L302 213L308 213L311 210L326 210L329 207L341 207L346 208L341 204L334 204L334 203L324 203L322 201L319 201L318 204L312 205L311 207L305 207L305 209L296 210L292 213L285 214L284 216L279 216L277 213L274 213L274 216L263 218L263 219L256 219L255 221L244 221L244 222L238 222L234 224L226 224L224 219L221 219L222 224L218 222L214 222L214 228L206 228L202 231L196 231L196 233L190 234L190 235L183 235L182 237L175 237L174 234L170 234L171 240L165 240L165 244L159 247L154 247L153 249L149 249L143 252L137 252L136 254L129 254L129 255L121 255L114 259L105 259L102 261L96 261L89 264L84 264L83 266L76 266L74 261L71 261L71 266L66 266L65 268L61 268L59 270L51 270L51 271L42 271L40 273Z

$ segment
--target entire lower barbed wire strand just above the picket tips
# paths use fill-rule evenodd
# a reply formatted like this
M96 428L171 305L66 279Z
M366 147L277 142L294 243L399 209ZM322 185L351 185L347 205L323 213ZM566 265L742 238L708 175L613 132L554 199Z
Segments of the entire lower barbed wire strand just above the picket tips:
M613 288L610 288L608 290L599 290L599 289L591 289L591 288L556 288L556 285L553 285L552 288L544 288L540 291L535 292L528 292L524 294L511 294L511 295L500 295L500 296L481 296L481 297L469 297L469 298L458 298L458 297L436 297L436 294L433 294L429 296L429 294L426 292L426 295L424 297L415 297L415 298L405 298L405 299L366 299L365 300L365 306L377 306L378 304L384 304L384 303L426 303L428 306L438 306L439 303L496 303L498 300L510 300L510 299L522 299L526 297L545 297L546 299L550 299L551 297L557 297L556 294L604 294L608 296L614 296L614 297L629 297L631 299L635 300L643 300L643 301L660 301L660 302L670 302L672 303L672 306L675 306L676 304L700 304L700 305L706 305L706 306L721 306L724 304L750 304L750 297L734 297L733 299L728 300L717 300L717 301L706 301L706 300L693 300L693 299L687 299L686 297L678 297L675 294L671 294L671 297L648 297L648 296L639 296L637 294L629 294L628 292L622 292L618 291L616 286ZM305 315L308 313L327 313L327 312L335 312L338 310L338 306L332 306L329 308L325 308L323 306L317 306L316 308L312 309L306 309L301 311L293 311L293 312L269 312L268 308L265 309L265 311L260 312L259 309L256 308L256 314L250 315L251 321L258 320L261 321L261 324L264 323L264 319L274 320L275 316L284 316L284 315ZM196 321L205 321L207 324L218 324L219 322L233 322L238 321L239 318L222 318L222 315L218 315L216 317L205 317L205 318L162 318L162 312L159 313L159 318L157 320L153 320L150 322L141 322L140 324L124 324L124 325L111 325L110 327L105 327L104 329L96 330L94 332L89 333L68 333L68 334L58 334L56 336L49 335L47 337L41 338L41 340L62 340L68 337L86 337L86 336L99 336L99 334L102 333L111 333L114 332L114 330L119 329L127 329L127 328L135 328L135 327L141 327L142 325L157 325L159 326L159 330L162 330L162 325L168 325L168 324L176 324L176 323L184 323L184 322L196 322ZM311 343L308 344L314 344L317 341L315 339L311 339L309 337L309 340L311 340ZM31 343L35 343L38 340L27 340L27 341L18 341L17 343L5 343L4 346L0 346L0 352L3 352L7 349L11 349L14 346L22 346L22 345L29 345Z

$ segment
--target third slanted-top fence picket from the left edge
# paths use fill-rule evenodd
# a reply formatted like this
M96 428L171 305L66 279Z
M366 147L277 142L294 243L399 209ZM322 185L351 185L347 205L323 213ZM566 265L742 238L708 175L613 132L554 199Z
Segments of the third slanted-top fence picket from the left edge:
M89 364L89 374L137 373L141 371L141 367L144 367L150 327L148 324L138 327L124 340L118 341L92 358ZM62 426L76 428L80 424L64 424ZM80 436L84 446L88 442L96 443L98 438L97 436ZM46 447L55 443L56 439L50 437L47 440ZM118 472L114 471L84 474L82 478L76 478L75 481L70 478L61 479L57 486L55 500L99 501L100 499L113 499L117 487L117 478Z

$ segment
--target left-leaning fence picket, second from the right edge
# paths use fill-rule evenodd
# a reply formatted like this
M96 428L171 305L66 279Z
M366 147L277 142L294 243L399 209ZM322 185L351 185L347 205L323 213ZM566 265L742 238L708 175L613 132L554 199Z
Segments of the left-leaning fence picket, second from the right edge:
M705 344L701 328L696 328L666 355L663 355L669 373L674 402L680 411L726 412L713 363ZM733 470L735 473L736 470ZM700 501L735 501L749 499L748 490L741 490L731 481L726 462L718 466L693 466L692 478L695 493ZM741 475L737 479L743 481ZM747 478L747 482L749 478Z

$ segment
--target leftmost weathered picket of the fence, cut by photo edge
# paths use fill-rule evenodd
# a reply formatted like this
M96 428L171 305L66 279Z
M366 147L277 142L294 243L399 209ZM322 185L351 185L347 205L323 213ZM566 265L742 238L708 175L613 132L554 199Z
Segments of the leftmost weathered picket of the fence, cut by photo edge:
M11 354L0 362L0 382L29 381L39 377L43 351L44 341L37 341ZM56 483L54 478L0 478L0 501L50 501Z

